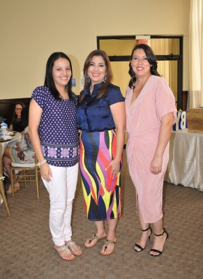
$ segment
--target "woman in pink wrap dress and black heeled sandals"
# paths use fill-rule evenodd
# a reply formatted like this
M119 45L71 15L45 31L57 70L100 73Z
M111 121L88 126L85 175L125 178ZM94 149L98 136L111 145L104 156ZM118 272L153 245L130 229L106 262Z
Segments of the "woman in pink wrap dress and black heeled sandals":
M127 159L137 193L142 226L135 251L141 252L154 232L151 256L163 252L168 237L163 228L163 179L169 140L176 119L174 94L157 72L156 56L148 45L136 45L130 59L131 80L126 90Z

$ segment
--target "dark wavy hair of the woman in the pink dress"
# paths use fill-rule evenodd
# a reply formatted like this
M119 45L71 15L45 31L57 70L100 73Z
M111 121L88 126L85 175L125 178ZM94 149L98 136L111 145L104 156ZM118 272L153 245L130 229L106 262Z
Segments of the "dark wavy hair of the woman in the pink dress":
M153 50L151 49L151 47L149 47L149 45L145 45L145 44L140 44L140 45L135 45L135 47L133 48L133 51L131 53L130 56L130 63L129 63L129 67L130 69L128 70L128 73L131 77L130 82L128 84L128 86L132 89L135 88L135 82L136 82L136 76L135 73L133 72L133 68L131 66L131 61L133 59L133 53L135 52L135 50L139 50L142 49L144 50L144 53L146 54L146 59L149 61L149 63L151 64L151 75L157 75L158 77L160 77L160 74L157 71L157 61L156 61L156 56L153 53Z

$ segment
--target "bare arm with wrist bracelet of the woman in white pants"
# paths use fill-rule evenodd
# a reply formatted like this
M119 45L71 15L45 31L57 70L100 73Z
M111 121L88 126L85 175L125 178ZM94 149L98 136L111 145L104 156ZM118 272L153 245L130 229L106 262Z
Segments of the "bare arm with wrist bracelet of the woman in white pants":
M38 162L40 163L45 160L41 149L40 137L38 135L38 126L40 124L42 113L43 110L36 103L36 101L32 99L29 106L29 136L38 158ZM48 164L44 164L40 167L40 174L47 182L51 181L50 177L52 177L52 172Z

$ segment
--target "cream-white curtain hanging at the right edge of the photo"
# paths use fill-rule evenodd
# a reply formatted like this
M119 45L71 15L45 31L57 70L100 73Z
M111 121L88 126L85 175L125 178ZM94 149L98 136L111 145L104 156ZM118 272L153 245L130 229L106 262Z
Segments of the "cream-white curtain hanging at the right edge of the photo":
M188 107L203 106L203 0L190 0Z

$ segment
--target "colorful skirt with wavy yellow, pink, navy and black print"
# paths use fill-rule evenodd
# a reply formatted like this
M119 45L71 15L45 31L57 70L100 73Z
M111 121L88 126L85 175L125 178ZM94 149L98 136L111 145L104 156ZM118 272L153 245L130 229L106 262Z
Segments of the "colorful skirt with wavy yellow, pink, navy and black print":
M80 172L89 220L121 217L120 172L112 179L111 167L105 170L115 153L116 135L113 130L80 134Z

